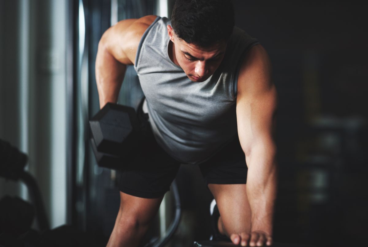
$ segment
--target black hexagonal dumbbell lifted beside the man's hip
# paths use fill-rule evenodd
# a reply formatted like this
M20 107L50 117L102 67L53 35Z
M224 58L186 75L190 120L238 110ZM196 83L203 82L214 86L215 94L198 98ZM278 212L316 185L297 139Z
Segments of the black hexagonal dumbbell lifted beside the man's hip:
M119 169L138 147L139 125L134 108L107 103L89 121L91 144L101 167Z

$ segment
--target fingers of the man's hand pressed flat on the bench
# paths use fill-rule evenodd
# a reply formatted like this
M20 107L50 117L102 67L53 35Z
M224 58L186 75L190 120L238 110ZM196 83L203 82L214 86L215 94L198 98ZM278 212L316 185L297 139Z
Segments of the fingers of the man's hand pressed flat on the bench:
M240 244L241 246L270 246L272 245L272 237L264 232L252 232L232 234L230 236L231 241L234 244Z

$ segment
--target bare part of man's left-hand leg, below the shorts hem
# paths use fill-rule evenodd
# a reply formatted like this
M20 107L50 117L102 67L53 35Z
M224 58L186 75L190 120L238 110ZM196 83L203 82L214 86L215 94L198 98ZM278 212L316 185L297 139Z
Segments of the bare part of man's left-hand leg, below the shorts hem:
M120 208L107 247L138 246L162 198L135 197L120 191Z

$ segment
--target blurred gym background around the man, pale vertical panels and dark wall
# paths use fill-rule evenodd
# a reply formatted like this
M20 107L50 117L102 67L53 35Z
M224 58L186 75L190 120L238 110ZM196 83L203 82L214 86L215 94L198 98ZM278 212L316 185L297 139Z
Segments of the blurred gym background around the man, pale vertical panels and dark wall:
M29 155L27 169L38 180L52 228L72 224L107 241L119 205L118 173L98 167L89 146L88 119L99 108L98 41L121 19L170 16L173 2L0 1L0 138ZM368 3L233 3L236 25L268 51L279 94L275 241L363 245ZM141 96L129 67L119 103L136 107ZM183 215L167 246L190 246L209 237L212 196L195 166L182 166L177 183ZM23 185L0 178L0 197L6 194L28 199ZM169 225L172 201L170 192L153 228Z

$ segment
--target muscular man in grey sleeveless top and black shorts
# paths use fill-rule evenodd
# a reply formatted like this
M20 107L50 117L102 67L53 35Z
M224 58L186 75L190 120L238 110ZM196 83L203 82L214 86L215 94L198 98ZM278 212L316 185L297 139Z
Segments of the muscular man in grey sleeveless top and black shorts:
M276 89L265 49L234 28L231 1L177 0L171 22L151 15L109 28L96 57L100 107L117 102L127 65L146 97L154 151L122 172L107 246L139 244L180 164L199 165L220 235L270 245Z

